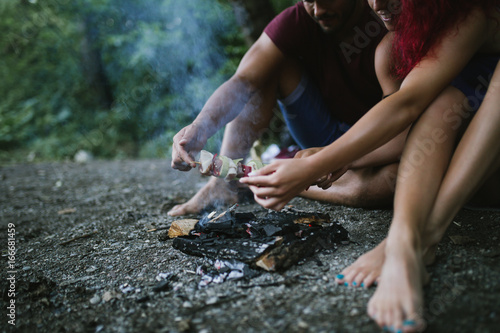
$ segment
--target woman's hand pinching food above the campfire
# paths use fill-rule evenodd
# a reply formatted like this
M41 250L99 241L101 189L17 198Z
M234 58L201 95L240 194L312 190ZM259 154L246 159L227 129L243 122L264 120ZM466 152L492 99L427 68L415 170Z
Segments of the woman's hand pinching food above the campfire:
M249 185L258 204L274 210L281 210L320 176L308 158L277 160L250 175L240 182Z

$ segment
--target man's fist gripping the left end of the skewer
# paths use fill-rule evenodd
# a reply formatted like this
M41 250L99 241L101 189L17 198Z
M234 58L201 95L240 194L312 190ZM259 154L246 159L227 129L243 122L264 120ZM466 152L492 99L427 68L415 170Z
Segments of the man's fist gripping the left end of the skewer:
M197 125L192 123L174 136L172 146L172 168L189 171L196 167L194 156L205 146L206 137Z

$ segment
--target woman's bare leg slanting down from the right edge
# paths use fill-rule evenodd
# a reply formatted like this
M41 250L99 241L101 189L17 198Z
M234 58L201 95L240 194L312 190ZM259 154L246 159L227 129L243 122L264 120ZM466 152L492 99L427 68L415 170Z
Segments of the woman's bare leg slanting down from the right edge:
M490 204L499 204L499 169L500 62L481 107L453 155L429 218L427 233L432 237L427 238L425 246L435 246L441 240L455 215L478 190L483 197L496 198ZM487 179L488 184L481 188Z

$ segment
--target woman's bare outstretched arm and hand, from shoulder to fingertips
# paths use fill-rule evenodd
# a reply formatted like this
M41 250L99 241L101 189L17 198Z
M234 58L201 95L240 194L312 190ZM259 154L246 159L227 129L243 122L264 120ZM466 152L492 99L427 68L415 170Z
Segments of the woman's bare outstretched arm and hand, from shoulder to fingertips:
M486 35L487 19L476 10L446 34L408 74L399 91L375 105L338 140L307 158L277 161L241 182L252 185L261 205L281 209L316 179L344 168L408 128L460 73Z

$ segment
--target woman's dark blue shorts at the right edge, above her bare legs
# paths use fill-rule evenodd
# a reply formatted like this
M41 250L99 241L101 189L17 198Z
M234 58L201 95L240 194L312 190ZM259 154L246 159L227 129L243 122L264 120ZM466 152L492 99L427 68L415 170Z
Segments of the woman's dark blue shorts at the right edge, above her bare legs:
M451 85L463 92L471 112L477 111L483 102L493 72L500 60L500 55L478 54L465 66Z

